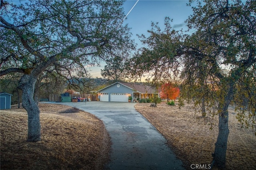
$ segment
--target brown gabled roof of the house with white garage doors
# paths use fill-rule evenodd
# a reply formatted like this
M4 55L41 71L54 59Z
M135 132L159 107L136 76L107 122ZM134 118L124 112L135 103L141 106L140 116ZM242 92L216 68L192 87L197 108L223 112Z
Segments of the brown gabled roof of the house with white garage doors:
M119 83L121 85L124 85L134 91L137 91L138 93L156 93L156 89L154 87L151 87L151 86L147 86L147 85L142 85L142 84L135 84L135 83L123 83L123 82L116 82L116 83ZM114 85L116 83L113 83L111 85ZM103 89L106 89L108 87L110 87L111 85L103 88ZM100 89L98 91L101 91L103 89ZM96 92L98 92L96 91Z

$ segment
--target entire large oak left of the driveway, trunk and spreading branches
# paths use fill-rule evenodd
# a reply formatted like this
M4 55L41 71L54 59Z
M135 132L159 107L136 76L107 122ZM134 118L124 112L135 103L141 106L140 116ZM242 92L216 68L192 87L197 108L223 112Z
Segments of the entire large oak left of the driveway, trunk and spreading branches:
M31 0L13 4L1 0L0 74L21 74L28 141L40 140L40 110L33 92L44 71L83 77L86 65L97 65L133 48L130 29L121 24L123 2Z

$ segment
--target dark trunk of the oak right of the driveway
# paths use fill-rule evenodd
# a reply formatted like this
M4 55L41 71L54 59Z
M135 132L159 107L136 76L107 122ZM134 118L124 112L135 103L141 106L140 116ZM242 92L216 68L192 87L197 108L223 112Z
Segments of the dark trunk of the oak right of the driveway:
M228 107L234 95L234 87L230 85L228 88L228 93L224 97L223 103L219 106L219 133L218 138L215 143L214 150L214 165L220 169L224 169L226 166L226 151L228 143Z

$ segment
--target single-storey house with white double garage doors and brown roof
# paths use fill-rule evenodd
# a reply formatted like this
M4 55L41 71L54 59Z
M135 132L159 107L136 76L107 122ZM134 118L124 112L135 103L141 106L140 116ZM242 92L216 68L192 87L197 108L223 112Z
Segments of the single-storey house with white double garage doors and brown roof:
M156 89L142 84L116 82L108 87L96 91L100 101L128 102L129 96L132 101L138 98L147 99L159 95Z

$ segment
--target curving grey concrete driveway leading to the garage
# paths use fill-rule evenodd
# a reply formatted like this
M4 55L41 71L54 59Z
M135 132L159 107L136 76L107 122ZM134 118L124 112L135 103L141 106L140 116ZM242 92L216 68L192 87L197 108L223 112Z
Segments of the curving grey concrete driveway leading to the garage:
M57 104L57 103L56 103ZM182 162L166 145L166 139L140 113L136 103L58 103L92 113L101 119L112 140L110 170L183 170Z

